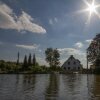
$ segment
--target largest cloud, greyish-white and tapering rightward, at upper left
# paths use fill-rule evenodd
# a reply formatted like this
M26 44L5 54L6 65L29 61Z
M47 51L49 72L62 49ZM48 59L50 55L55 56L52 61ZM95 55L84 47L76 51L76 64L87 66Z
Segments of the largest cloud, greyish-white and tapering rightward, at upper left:
M46 30L42 26L33 23L33 21L33 18L26 12L22 11L20 16L16 16L10 7L4 3L0 3L0 28L39 34L46 33Z

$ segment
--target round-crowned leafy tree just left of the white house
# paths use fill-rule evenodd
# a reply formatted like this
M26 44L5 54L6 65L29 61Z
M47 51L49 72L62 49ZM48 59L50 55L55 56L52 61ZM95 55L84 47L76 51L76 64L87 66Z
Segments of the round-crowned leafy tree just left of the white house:
M47 48L45 50L46 61L49 63L50 67L59 66L60 54L57 49Z

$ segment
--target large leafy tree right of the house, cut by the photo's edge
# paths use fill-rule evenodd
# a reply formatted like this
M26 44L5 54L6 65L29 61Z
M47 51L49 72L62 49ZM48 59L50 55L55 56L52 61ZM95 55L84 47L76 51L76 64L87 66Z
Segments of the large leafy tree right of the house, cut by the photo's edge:
M87 48L87 59L95 66L100 66L100 34L96 35Z

